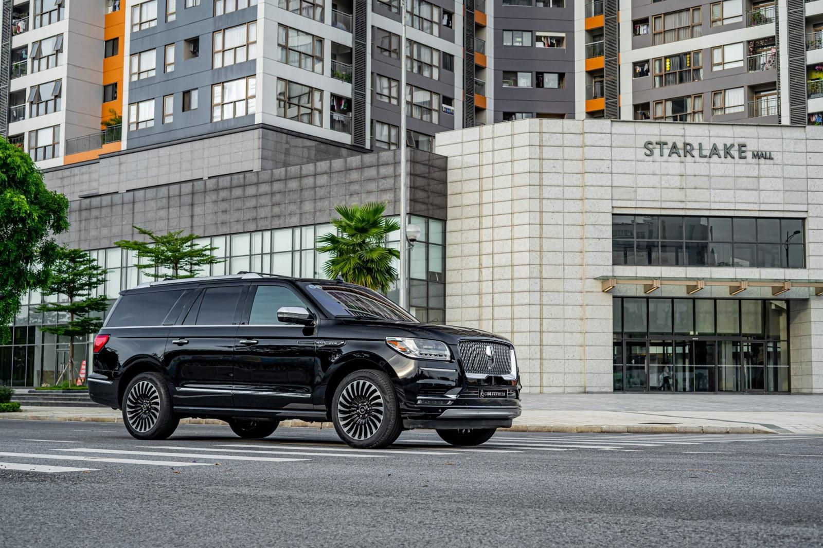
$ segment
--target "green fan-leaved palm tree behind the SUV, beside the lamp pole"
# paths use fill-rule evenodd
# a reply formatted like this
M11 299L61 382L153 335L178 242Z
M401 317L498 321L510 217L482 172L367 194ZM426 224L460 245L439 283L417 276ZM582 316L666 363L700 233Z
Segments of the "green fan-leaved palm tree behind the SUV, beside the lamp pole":
M383 216L386 204L368 202L363 206L340 205L334 208L339 219L332 225L340 235L327 234L317 239L321 253L331 254L323 267L329 278L343 280L375 291L388 293L398 277L392 259L399 259L397 249L386 247L390 232L400 230L400 223Z

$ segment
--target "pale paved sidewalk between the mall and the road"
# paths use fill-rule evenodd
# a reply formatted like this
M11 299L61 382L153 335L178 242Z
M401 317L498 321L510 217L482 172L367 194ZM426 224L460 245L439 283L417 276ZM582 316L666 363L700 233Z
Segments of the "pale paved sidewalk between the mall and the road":
M122 422L107 407L24 406L0 419ZM182 424L224 424L184 419ZM314 426L286 420L283 426ZM323 428L331 428L323 423ZM0 426L2 429L2 426ZM770 394L523 394L511 430L632 434L823 434L823 397Z

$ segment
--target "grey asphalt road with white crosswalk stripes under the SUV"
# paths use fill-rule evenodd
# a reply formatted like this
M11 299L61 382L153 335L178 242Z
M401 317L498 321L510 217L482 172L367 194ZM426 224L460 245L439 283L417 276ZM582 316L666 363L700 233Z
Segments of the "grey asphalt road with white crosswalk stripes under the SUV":
M416 430L388 450L352 451L333 430L249 441L181 425L140 442L123 425L0 420L0 539L821 546L823 436L504 432L458 451Z

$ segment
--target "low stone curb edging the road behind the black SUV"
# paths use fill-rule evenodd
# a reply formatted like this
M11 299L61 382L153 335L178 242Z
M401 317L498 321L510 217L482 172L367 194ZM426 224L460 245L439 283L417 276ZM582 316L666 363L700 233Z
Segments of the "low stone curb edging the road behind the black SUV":
M12 413L0 414L0 419L7 420L59 420L75 422L122 423L121 417L113 416L48 416L23 412L17 416ZM181 425L226 425L219 419L181 419ZM334 428L330 422L306 422L305 420L283 420L281 426L296 428ZM500 428L501 432L565 432L577 434L777 434L763 426L675 426L675 425L512 425Z

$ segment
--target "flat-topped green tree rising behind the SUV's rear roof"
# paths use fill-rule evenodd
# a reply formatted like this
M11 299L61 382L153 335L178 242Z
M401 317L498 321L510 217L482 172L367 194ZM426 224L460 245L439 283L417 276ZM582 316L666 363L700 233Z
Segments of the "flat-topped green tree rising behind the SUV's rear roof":
M212 256L216 248L207 245L194 244L198 235L185 235L183 230L170 232L167 235L156 235L151 230L133 226L140 234L151 241L121 239L114 245L136 251L137 258L142 264L135 265L146 271L146 276L153 278L193 278L198 275L200 267L223 262L223 259Z

